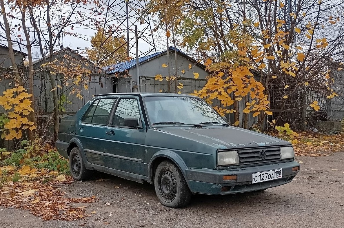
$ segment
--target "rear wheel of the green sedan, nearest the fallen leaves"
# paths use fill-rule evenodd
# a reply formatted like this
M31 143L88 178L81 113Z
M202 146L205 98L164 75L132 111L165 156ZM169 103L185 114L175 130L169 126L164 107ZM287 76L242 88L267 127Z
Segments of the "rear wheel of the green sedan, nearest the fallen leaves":
M69 170L77 181L86 181L92 175L92 171L86 169L81 152L77 147L74 147L69 154Z

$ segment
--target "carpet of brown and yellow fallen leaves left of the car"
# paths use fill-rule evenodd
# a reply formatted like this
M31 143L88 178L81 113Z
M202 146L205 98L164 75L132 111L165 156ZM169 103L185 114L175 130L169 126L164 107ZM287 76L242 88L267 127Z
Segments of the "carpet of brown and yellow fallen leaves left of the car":
M13 166L2 166L0 171L6 171L9 175L15 169ZM30 210L31 214L43 220L73 221L90 216L85 210L87 206L73 207L72 204L93 203L97 200L96 196L67 198L64 197L66 193L57 188L59 184L70 184L71 177L44 169L38 171L25 165L17 173L21 175L21 181L9 181L0 188L1 206Z

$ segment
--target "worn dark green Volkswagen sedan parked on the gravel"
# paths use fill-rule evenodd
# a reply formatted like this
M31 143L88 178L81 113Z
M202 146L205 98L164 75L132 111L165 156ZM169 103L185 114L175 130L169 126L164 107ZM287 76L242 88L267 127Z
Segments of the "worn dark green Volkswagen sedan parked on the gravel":
M96 95L61 120L56 147L75 180L97 170L149 182L160 202L174 208L195 193L264 191L300 170L289 142L229 126L188 95Z

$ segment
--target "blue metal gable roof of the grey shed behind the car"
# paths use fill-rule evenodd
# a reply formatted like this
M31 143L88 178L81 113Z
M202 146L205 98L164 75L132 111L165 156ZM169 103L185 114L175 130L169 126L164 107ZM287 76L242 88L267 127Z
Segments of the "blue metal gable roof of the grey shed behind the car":
M175 49L177 52L180 52L181 54L187 56L185 53L183 53L182 51L180 51L178 48ZM169 51L174 51L174 47L170 47L169 48ZM157 53L154 53L154 54L151 54L151 55L147 55L147 56L143 56L143 57L140 57L139 58L139 64L142 64L144 62L147 62L149 59L153 59L153 58L156 58L164 53L166 53L167 50L165 51L162 51L162 52L157 52ZM189 56L188 56L189 57ZM195 59L189 57L190 59L192 59L193 61L197 62ZM115 73L121 73L121 72L124 72L125 70L129 70L131 69L132 67L136 67L136 59L133 58L129 61L126 61L126 62L122 62L122 63L118 63L118 64L115 64L115 65L110 65L110 66L106 66L106 67L103 67L103 70L106 72L106 73L109 73L109 74L115 74Z

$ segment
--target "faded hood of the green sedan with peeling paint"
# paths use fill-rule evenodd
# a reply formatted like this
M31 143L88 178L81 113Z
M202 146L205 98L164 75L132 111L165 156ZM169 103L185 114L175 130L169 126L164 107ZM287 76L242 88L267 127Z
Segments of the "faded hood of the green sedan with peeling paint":
M170 133L184 139L216 146L217 149L240 149L260 146L290 145L289 142L237 127L203 127L203 128L159 128L158 131Z

